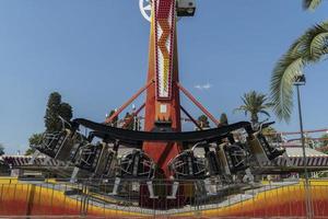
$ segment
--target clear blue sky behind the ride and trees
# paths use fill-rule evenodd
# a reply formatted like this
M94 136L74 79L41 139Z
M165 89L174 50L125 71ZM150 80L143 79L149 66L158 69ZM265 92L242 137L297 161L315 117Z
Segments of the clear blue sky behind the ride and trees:
M301 5L301 0L198 0L196 16L178 23L184 87L216 117L225 112L232 123L245 119L232 113L241 95L268 93L276 61L307 27L327 19L328 2L315 13ZM43 131L52 91L73 106L75 117L102 122L145 83L148 41L138 0L0 1L0 142L7 152L24 151L28 137ZM327 61L305 72L304 126L325 128ZM195 88L203 84L211 88ZM183 105L201 114L185 97ZM296 130L297 114L276 128Z

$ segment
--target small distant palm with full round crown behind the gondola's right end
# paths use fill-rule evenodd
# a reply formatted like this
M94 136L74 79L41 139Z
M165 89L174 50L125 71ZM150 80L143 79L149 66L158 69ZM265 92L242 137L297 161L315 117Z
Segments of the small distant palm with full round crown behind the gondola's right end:
M256 91L250 91L245 93L242 96L244 105L235 108L234 112L244 112L247 116L250 114L250 122L253 125L258 124L258 114L265 114L270 116L267 110L269 110L272 104L268 102L268 97L266 94L257 93Z

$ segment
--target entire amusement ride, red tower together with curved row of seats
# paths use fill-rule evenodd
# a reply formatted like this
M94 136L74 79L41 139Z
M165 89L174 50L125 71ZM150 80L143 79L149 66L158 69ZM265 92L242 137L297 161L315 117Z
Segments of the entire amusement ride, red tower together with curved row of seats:
M149 68L145 85L104 123L84 118L62 120L62 130L46 132L36 149L52 159L75 166L72 181L79 181L78 171L89 173L90 180L102 178L115 182L110 195L120 193L124 181L140 182L140 198L143 206L150 201L184 201L185 187L181 182L206 178L232 178L242 175L251 182L253 166L274 164L284 149L269 145L261 134L262 124L254 128L248 122L221 125L181 85L178 76L177 31L180 18L194 16L195 0L140 0L142 15L150 21ZM133 114L144 108L144 130L128 130L112 126L112 122L145 92L145 103ZM180 113L195 119L180 105L180 92L190 99L214 124L215 128L181 131ZM126 120L126 125L131 120ZM196 123L196 122L195 122ZM198 126L198 124L196 124ZM89 136L79 129L85 127ZM243 130L244 138L236 139L234 132ZM95 143L95 139L102 139ZM120 147L133 150L118 158ZM196 148L203 149L203 158L195 154ZM157 194L154 184L169 182L166 196Z

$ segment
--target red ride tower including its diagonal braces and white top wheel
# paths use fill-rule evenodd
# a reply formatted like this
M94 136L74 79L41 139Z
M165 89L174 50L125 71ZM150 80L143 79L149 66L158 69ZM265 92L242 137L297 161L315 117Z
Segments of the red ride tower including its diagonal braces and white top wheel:
M145 5L143 5L145 3ZM180 132L180 112L184 112L196 125L196 120L180 106L180 91L190 99L215 125L219 122L181 87L178 73L178 53L176 22L179 16L192 16L195 0L140 0L141 9L148 10L151 22L149 44L149 68L147 84L124 104L106 123L110 123L142 92L147 92L145 103L134 112L145 108L144 131ZM142 11L147 16L147 13ZM161 178L169 178L168 162L181 151L178 142L143 142L142 149L157 165ZM144 187L145 188L145 187ZM141 188L143 189L143 188ZM148 193L147 189L143 189ZM183 191L179 192L183 197ZM179 201L179 198L172 201ZM141 197L145 206L150 204L147 195Z

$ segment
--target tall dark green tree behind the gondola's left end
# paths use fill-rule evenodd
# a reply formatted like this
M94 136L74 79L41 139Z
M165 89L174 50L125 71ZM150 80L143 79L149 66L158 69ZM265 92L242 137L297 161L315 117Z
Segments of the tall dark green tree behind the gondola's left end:
M73 113L70 104L61 102L61 95L58 92L51 93L48 99L45 115L46 131L59 131L61 129L61 120L58 116L61 116L66 120L70 120L72 115Z

